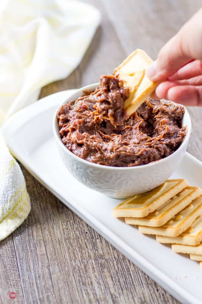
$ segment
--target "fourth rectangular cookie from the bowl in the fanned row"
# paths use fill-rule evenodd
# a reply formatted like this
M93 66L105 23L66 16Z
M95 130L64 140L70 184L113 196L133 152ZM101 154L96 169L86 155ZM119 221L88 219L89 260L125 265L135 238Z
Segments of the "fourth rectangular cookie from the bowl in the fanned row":
M199 245L202 241L202 216L197 217L191 227L181 233L178 237L157 235L156 240L159 243L167 244Z

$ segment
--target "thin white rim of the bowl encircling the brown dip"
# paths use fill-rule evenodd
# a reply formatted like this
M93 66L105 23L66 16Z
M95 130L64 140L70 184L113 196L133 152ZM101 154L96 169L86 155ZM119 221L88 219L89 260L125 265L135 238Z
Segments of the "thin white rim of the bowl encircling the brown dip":
M83 164L88 164L89 166L92 166L92 167L97 167L97 168L103 168L103 169L107 169L107 170L137 170L137 169L141 169L141 168L148 168L148 167L152 167L152 166L155 166L157 164L163 164L163 162L167 161L169 158L173 157L177 152L179 152L179 150L181 150L184 145L187 144L187 142L189 141L189 137L190 137L190 134L191 134L191 119L190 119L190 115L187 111L187 109L184 107L185 109L185 113L184 115L186 114L187 116L187 125L186 125L186 129L187 129L187 134L183 140L183 142L181 143L181 145L177 148L176 151L174 151L172 154L170 154L169 156L167 157L164 157L164 158L161 158L160 160L158 161L154 161L154 162L151 162L149 164L145 164L145 165L140 165L140 166L131 166L131 167L113 167L113 166L106 166L106 165L101 165L101 164L96 164L96 163L91 163L90 161L87 161L77 155L75 155L73 152L71 152L70 150L68 150L67 147L65 147L64 143L62 142L59 134L58 134L58 130L59 130L59 127L58 127L58 119L57 119L57 112L58 112L58 109L61 107L61 105L69 102L70 100L72 100L72 97L74 97L75 94L77 94L78 92L81 92L81 95L82 95L82 92L85 91L85 90L94 90L97 86L99 86L99 82L97 83L94 83L94 84L91 84L91 85L87 85L87 86L84 86L80 89L78 89L77 91L75 91L74 93L72 93L71 95L68 96L68 98L66 98L63 102L61 102L61 104L58 106L58 108L56 109L55 111L55 114L54 114L54 117L53 117L53 133L54 133L54 137L57 141L57 143L59 144L59 146L63 149L63 151L66 153L66 154L69 154L70 157L73 157L75 158L75 160L77 161L80 161L81 163ZM75 99L75 98L73 98ZM172 101L168 101L168 100L165 100L166 102L172 102ZM172 102L173 104L176 104L175 102ZM183 105L182 105L183 106Z

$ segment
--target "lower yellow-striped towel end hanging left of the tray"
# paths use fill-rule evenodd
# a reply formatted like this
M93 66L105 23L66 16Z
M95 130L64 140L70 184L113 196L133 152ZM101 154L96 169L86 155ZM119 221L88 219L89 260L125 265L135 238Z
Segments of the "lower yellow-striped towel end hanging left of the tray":
M22 224L30 209L24 176L0 130L0 240Z

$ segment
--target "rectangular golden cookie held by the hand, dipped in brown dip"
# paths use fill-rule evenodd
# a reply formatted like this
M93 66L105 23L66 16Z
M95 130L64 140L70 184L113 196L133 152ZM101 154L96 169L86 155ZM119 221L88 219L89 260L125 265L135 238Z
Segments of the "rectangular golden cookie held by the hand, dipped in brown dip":
M124 81L130 96L124 102L128 117L149 97L159 83L151 81L145 69L153 62L144 50L134 50L115 70L114 75Z

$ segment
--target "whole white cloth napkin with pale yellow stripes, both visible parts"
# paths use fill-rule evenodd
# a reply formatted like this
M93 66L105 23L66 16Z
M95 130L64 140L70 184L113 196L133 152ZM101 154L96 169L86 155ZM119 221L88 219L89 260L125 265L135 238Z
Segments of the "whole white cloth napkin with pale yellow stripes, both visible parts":
M0 126L36 101L41 87L67 77L78 66L100 19L97 9L78 1L1 1ZM29 210L24 177L0 132L0 240Z

